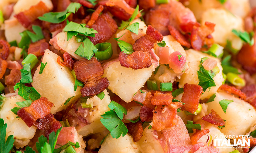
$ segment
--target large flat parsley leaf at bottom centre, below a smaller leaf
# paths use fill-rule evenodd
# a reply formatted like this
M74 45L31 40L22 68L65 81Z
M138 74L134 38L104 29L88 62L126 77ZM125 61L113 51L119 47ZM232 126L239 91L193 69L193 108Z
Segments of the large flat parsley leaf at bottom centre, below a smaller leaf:
M114 110L105 112L101 117L103 117L100 119L101 123L110 131L113 138L119 138L121 135L124 137L127 134L127 127Z

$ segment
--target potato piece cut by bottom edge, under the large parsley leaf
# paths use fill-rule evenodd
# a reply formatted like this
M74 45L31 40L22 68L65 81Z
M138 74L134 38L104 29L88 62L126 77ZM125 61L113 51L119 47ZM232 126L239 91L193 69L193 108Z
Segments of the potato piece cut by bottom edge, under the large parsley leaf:
M105 138L101 145L99 153L140 153L137 144L132 140L132 137L126 134L118 139L112 138L110 134Z

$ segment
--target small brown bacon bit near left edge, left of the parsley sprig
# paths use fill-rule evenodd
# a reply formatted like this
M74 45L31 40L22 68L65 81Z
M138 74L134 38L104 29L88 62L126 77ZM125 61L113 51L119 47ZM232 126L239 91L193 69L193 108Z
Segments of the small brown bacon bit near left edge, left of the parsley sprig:
M14 92L13 86L15 86L20 79L21 72L18 69L12 69L10 74L5 76L5 85L8 87L10 93Z

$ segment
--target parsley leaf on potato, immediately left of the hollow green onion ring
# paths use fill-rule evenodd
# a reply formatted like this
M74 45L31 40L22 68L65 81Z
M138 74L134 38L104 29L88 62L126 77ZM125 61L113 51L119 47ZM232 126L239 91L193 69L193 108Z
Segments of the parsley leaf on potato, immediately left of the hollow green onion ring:
M94 55L94 52L97 52L97 48L89 38L85 38L83 43L75 51L75 54L90 60Z

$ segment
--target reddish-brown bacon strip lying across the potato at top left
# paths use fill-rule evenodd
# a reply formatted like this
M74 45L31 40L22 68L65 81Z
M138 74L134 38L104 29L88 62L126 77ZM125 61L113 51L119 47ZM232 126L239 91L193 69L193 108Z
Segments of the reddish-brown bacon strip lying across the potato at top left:
M40 1L38 4L31 6L28 10L15 14L14 17L17 18L21 25L28 28L37 17L42 16L46 12L49 12L49 9Z

